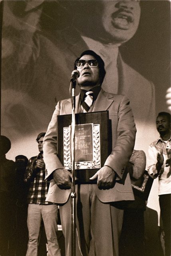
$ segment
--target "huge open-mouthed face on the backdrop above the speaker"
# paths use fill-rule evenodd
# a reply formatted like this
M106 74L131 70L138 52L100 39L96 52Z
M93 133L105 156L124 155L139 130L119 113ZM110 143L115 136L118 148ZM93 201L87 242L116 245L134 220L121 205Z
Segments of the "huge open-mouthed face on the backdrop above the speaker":
M104 0L102 14L103 28L115 42L126 42L137 31L140 12L139 1Z

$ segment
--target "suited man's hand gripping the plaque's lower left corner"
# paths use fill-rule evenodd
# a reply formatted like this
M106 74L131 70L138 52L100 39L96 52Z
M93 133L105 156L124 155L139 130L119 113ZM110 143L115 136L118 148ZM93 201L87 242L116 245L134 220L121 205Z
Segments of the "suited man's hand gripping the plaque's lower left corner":
M65 168L55 170L53 178L60 189L70 189L72 186L72 174Z

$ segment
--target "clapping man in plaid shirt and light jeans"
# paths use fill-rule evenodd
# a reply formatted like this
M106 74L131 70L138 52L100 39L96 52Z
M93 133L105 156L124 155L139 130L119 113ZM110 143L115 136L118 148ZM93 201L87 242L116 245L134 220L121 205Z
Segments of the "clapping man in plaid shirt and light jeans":
M26 256L38 255L38 240L41 221L43 219L48 241L48 256L61 256L57 240L58 231L58 205L45 202L49 183L45 178L45 163L43 160L43 139L45 132L38 134L38 156L29 159L24 175L24 181L29 182L28 193L28 249Z

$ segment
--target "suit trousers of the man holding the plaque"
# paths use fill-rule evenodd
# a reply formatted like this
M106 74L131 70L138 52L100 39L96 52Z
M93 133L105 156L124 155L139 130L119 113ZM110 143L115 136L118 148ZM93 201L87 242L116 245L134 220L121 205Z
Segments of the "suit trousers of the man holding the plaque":
M76 185L76 256L118 256L123 210L97 198L91 184ZM60 206L66 256L71 256L71 198Z

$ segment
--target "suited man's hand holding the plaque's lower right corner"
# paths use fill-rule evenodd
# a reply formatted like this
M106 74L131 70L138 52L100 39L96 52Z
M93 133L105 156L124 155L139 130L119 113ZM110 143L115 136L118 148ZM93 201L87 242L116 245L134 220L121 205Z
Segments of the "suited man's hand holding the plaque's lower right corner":
M115 184L115 172L109 166L103 166L98 170L90 180L97 179L97 186L99 189L113 188Z

